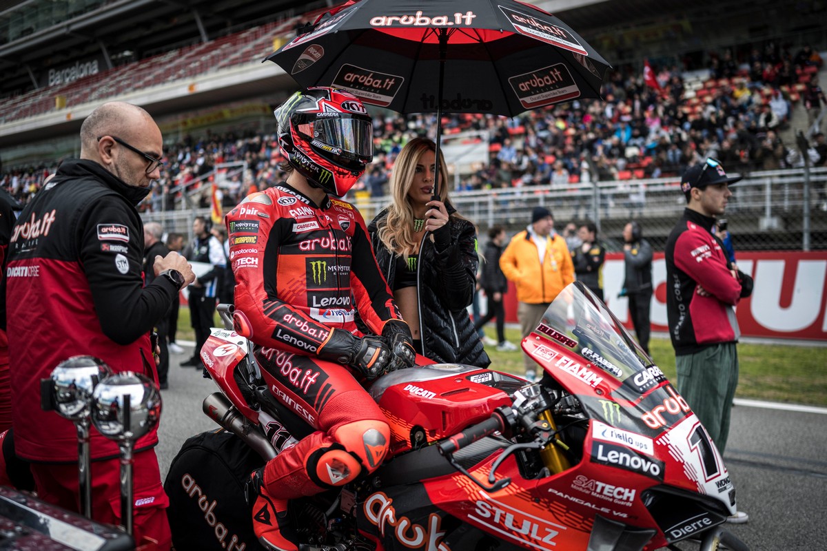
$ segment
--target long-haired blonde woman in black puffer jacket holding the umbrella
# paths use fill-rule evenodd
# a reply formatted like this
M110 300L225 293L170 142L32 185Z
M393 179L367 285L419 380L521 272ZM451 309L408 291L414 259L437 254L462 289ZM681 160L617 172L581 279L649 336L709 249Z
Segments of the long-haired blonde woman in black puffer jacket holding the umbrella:
M447 197L433 197L437 146L409 141L390 177L393 202L368 226L370 240L419 354L441 363L488 367L480 336L468 316L479 259L476 230ZM440 154L440 181L447 182Z

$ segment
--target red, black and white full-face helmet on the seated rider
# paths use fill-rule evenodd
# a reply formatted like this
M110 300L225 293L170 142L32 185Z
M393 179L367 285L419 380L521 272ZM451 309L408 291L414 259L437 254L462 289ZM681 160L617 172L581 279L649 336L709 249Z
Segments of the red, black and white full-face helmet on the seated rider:
M274 114L282 154L314 188L342 197L373 159L373 125L351 93L308 88Z

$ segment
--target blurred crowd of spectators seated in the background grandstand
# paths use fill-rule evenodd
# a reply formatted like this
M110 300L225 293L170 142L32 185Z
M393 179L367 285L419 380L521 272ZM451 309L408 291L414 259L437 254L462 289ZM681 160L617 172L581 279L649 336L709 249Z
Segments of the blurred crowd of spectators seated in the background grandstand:
M736 61L725 51L710 56L703 78L687 82L690 73L676 66L654 72L657 84L646 82L631 65L609 72L604 101L573 101L520 116L443 116L445 135L488 131L490 159L464 175L461 188L477 190L512 186L552 185L631 178L679 176L706 157L721 160L729 170L801 166L795 143L782 141L793 109L805 109L810 126L810 162L827 164L827 144L820 132L827 97L819 86L823 60L805 46L792 55L769 42L755 47L748 59ZM655 68L657 69L657 68ZM822 115L822 116L820 116ZM385 192L388 173L402 145L416 135L434 137L435 116L374 116L374 164L356 190L372 196ZM165 151L166 166L144 202L148 211L169 209L172 200L222 163L246 161L243 174L233 174L222 187L223 202L236 204L253 189L282 180L283 160L274 135L187 136ZM36 193L60 159L39 166L9 167L2 186L21 202ZM166 203L165 203L166 201ZM203 193L202 207L209 196Z

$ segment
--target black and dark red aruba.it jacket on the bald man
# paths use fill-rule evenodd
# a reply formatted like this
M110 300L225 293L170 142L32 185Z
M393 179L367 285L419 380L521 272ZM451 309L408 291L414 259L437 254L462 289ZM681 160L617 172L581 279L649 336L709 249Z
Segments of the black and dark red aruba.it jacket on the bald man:
M63 360L89 354L116 373L144 373L157 382L149 331L177 289L167 278L143 287L143 224L135 205L146 192L97 163L68 160L17 218L0 325L8 333L14 436L22 458L78 459L74 425L41 410L41 378ZM157 441L153 430L136 450ZM93 458L117 454L117 445L93 429Z

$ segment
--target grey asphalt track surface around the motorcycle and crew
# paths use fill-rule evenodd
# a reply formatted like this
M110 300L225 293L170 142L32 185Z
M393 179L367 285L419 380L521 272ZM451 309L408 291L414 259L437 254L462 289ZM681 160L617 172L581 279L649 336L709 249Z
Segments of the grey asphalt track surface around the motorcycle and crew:
M170 356L170 388L161 392L161 477L185 439L218 428L201 411L218 387L201 368L179 367L187 358ZM788 406L736 401L724 461L749 522L729 530L752 551L827 549L827 410L779 407Z

